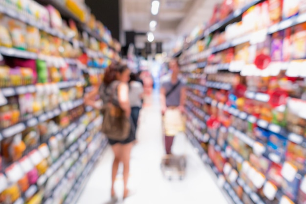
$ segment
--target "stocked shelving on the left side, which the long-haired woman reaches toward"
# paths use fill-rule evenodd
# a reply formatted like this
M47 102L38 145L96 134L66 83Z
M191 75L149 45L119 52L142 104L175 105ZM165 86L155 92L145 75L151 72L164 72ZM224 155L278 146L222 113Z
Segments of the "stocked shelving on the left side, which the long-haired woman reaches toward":
M76 22L79 30L87 32L99 43L107 44L108 51L110 49L111 53L117 52L105 39L89 29L84 22L81 22L62 2L58 0L36 1L42 5L52 5L64 19L72 19ZM73 45L75 49L80 49L80 52L86 53L92 60L118 60L111 58L102 48L99 48L100 51L89 49L79 39L66 36L61 30L35 20L28 11L21 11L19 7L15 9L14 6L6 6L5 3L8 2L0 2L1 14L38 28L40 32L63 40L63 43ZM84 40L84 42L86 41ZM103 75L102 65L93 63L93 66L88 67L89 62L82 64L78 59L79 55L63 57L66 55L58 53L56 56L49 56L43 54L41 50L32 52L5 46L0 46L0 55L4 59L1 65L10 65L8 63L10 60L31 60L36 65L38 61L45 62L48 75L42 79L33 74L33 76L31 75L32 83L24 82L25 80L22 78L24 76L18 78L21 81L24 80L22 82L18 82L16 78L10 78L10 76L1 75L2 78L0 77L0 203L4 202L1 199L5 199L5 204L28 204L29 202L71 204L75 202L91 169L108 144L107 138L101 133L102 115L91 107L87 107L83 99L84 94L91 91L96 85L95 81ZM17 67L16 69L26 68L26 66L15 67ZM14 67L3 67L3 70L8 69L14 69ZM58 75L51 76L51 69L52 71L57 69ZM38 70L35 69L33 72L37 76L39 75ZM90 75L89 79L85 78L84 72ZM62 75L59 76L59 74ZM57 101L57 105L54 106L50 103L50 107L48 107L42 102L39 104L41 105L39 111L34 111L40 106L35 107L33 104L28 104L26 113L22 113L21 105L24 105L25 102L22 102L20 98L24 96L29 96L28 103L33 99L32 103L34 104L34 99L37 102L40 97L41 101L43 101L41 98L48 100L48 102ZM3 111L12 109L12 102L15 108L18 107L18 110L14 109L16 118L14 121L3 119L5 116L8 117ZM12 114L9 118L13 117ZM6 122L6 120L9 121ZM53 126L50 126L52 124ZM28 130L32 134L36 133L35 144L29 145L25 141L25 136L27 136L25 132ZM12 141L19 135L25 146L20 153L20 158L12 159L12 156L6 158L3 153L8 150L5 149L4 144L8 143L11 146ZM12 154L13 147L9 148L8 152ZM35 181L31 180L34 177L32 174L37 176ZM26 189L25 186L22 186L22 182L27 185ZM16 195L13 196L8 192L14 185L18 186L19 190L14 192ZM21 189L24 190L21 191Z

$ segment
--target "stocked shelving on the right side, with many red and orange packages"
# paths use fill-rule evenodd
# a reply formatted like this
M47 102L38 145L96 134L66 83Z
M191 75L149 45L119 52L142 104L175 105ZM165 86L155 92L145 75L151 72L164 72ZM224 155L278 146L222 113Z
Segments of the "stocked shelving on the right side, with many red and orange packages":
M242 44L247 48L255 47L253 53L251 48L244 49L249 57L255 52L254 55L258 55L261 45L270 50L270 45L259 38L270 40L270 35L305 23L306 14L299 13L240 35L231 33L232 38L226 35L230 35L226 33L229 32L227 26L241 19L243 22L248 12L267 2L253 0L225 20L206 27L175 54L179 56L181 71L187 80L186 134L203 162L218 177L219 186L235 204L301 204L306 194L306 137L304 132L298 134L299 125L289 120L289 116L294 114L294 103L289 103L297 100L306 104L306 101L302 99L302 93L296 96L298 94L293 94L290 88L289 91L282 89L279 81L293 78L292 84L296 83L296 89L302 87L303 92L305 83L296 81L305 80L302 66L305 59L294 58L292 51L290 59L272 60L266 69L261 70L249 58L241 59L240 55L237 60L236 57ZM284 36L281 35L282 46L293 46L295 33L290 35L290 45L283 44ZM271 52L264 54L269 56ZM263 78L267 85L261 84ZM276 80L278 89L271 89L269 80ZM277 92L280 89L283 92ZM277 95L281 93L282 96ZM285 100L274 107L280 97ZM303 108L299 110L305 112ZM299 121L306 119L302 113L294 118L299 118ZM291 123L294 128L290 127Z

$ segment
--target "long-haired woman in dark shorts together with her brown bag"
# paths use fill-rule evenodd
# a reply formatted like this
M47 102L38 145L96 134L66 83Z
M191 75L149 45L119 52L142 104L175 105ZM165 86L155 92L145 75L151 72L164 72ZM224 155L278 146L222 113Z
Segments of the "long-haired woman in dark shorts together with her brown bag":
M104 113L104 121L102 125L102 129L104 129L104 133L109 138L109 144L114 153L114 161L112 165L112 177L111 177L111 198L115 199L115 191L114 191L114 182L116 179L117 171L119 163L123 163L123 181L124 181L124 193L123 198L128 197L129 190L127 188L129 171L130 171L130 155L131 148L133 146L133 141L135 140L135 131L133 127L133 123L131 122L131 106L129 100L129 85L128 82L130 80L130 69L126 65L115 64L109 66L106 69L104 74L103 83L100 87L95 88L93 91L88 93L85 97L85 103L89 106L92 106L97 109L101 109L99 105L97 105L96 95L99 95L100 99L103 101L103 107L106 107L106 112ZM130 123L129 130L126 127L120 127L119 123L112 124L114 120L120 121L128 120ZM123 124L126 125L127 124ZM127 135L122 138L118 137L118 130L123 130L123 132L129 131ZM117 131L117 132L116 132ZM114 139L114 135L112 133L117 134ZM120 135L119 135L120 137Z

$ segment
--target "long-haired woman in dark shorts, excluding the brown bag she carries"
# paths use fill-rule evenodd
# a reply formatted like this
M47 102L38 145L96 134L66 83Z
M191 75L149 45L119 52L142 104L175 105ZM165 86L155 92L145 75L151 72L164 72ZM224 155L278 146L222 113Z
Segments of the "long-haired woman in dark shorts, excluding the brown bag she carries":
M95 88L88 93L85 97L85 103L94 108L101 108L96 105L96 95L103 100L104 104L111 103L111 105L120 108L126 114L126 117L131 118L131 106L129 100L129 85L130 69L125 65L111 65L105 71L103 83L100 87ZM134 136L133 122L131 122L131 133L123 141L113 140L109 138L109 144L111 145L114 153L114 161L112 164L112 177L111 177L111 198L115 199L114 183L119 167L119 163L123 163L123 181L124 181L124 193L123 198L127 198L129 190L127 188L129 172L130 172L130 155Z

